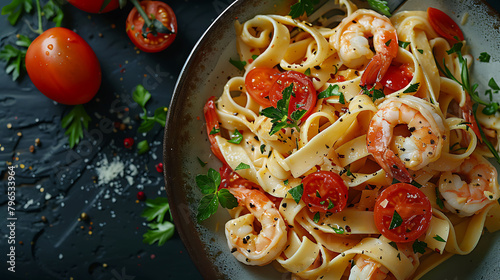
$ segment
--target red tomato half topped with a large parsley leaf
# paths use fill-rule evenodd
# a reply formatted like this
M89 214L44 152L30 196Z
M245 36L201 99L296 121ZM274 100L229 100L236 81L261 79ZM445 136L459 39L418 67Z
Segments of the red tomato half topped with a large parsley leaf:
M306 119L316 105L317 97L311 79L300 72L287 71L278 76L269 90L271 104L276 106L278 101L283 99L283 90L292 83L295 96L290 98L288 115L290 116L296 110L306 110L306 114L302 117L302 119Z

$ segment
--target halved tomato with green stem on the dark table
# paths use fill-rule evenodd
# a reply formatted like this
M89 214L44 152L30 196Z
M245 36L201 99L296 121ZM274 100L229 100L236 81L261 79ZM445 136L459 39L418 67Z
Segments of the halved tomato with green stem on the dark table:
M134 7L127 17L126 30L128 37L132 40L134 45L144 52L159 52L166 49L172 44L177 33L177 20L174 11L169 5L161 1L142 1L140 4L150 18L154 17L159 20L174 33L157 33L156 36L149 33L147 38L144 38L144 36L142 36L144 19ZM149 28L146 30L149 31Z

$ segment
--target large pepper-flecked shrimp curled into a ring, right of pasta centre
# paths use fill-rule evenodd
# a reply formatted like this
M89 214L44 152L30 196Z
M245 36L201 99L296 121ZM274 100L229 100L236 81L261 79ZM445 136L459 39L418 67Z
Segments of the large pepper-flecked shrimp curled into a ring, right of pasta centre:
M397 125L407 124L409 137L394 135ZM379 106L367 133L367 148L375 161L393 178L411 182L406 168L419 170L439 159L445 127L435 107L408 95L389 98Z

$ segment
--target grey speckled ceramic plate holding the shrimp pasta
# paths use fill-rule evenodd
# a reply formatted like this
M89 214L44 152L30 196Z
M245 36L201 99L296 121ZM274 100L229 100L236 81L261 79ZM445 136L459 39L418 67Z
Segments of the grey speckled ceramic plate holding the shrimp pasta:
M241 75L229 63L238 58L233 23L257 14L287 14L295 0L248 0L233 3L209 27L193 49L177 81L169 107L165 129L164 162L167 195L177 230L191 258L206 279L283 279L271 265L252 267L241 264L229 252L224 224L230 219L224 209L202 224L196 222L201 193L195 176L218 169L220 162L209 148L203 118L203 105L208 97L220 96L229 77ZM488 80L494 76L500 81L499 54L500 21L498 14L479 0L431 1L410 0L399 10L439 8L461 23L465 13L467 22L461 25L472 55L492 54L490 63L474 62L474 82L484 92ZM198 158L207 161L202 167ZM477 248L467 256L453 256L428 273L424 279L498 279L500 272L500 233L485 233Z

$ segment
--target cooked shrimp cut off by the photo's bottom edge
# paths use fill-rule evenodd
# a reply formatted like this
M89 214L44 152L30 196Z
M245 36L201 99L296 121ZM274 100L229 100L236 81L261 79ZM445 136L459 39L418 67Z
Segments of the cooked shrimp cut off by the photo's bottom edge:
M351 268L349 280L383 280L387 278L389 270L380 263L363 255L356 255L353 261L355 265Z

